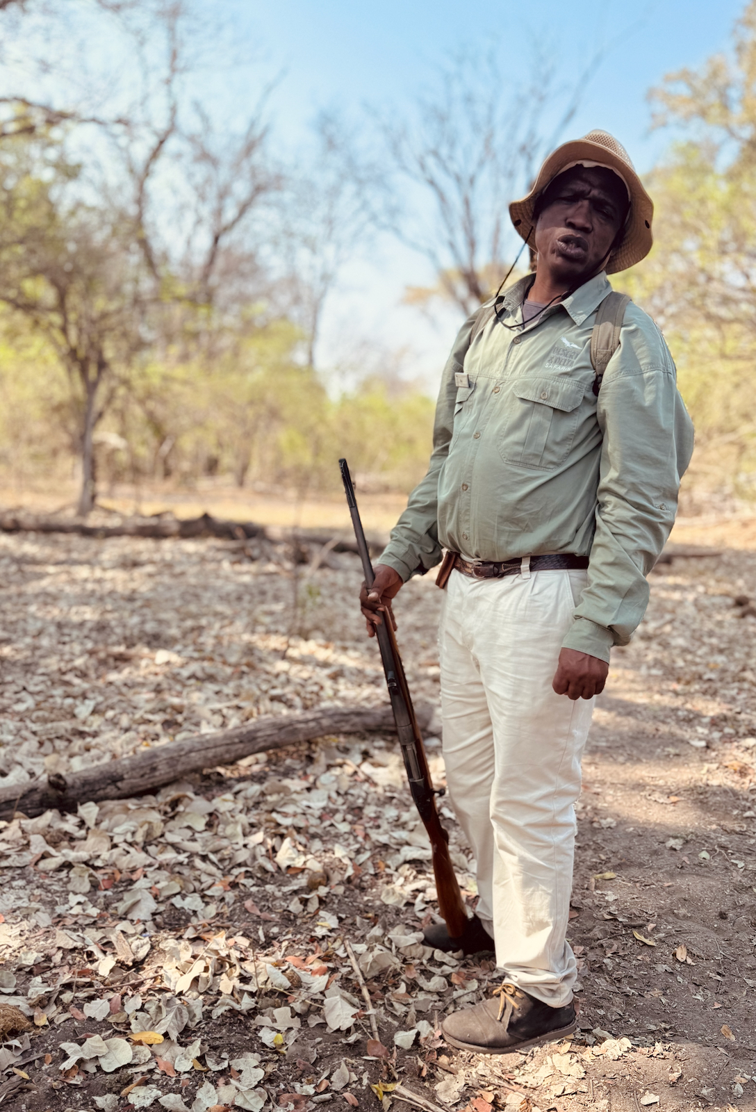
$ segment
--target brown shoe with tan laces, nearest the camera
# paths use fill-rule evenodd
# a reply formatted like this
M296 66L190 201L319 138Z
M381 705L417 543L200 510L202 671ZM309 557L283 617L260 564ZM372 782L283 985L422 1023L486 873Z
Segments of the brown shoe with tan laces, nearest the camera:
M496 999L498 996L498 1000ZM475 1054L508 1054L537 1043L570 1035L577 1026L575 1007L550 1007L505 981L490 1000L447 1015L444 1037Z

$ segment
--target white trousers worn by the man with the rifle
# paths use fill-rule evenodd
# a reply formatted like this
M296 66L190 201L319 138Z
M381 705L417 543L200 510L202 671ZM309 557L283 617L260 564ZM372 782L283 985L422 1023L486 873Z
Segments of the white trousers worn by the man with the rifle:
M477 914L507 980L553 1007L576 977L565 935L594 699L557 695L551 679L586 578L455 570L439 631L447 785L477 863Z

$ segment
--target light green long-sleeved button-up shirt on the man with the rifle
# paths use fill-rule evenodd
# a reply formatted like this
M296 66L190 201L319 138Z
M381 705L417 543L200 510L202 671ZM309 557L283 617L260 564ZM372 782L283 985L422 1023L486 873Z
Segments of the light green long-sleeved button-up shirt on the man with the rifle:
M533 280L507 291L507 325L521 322ZM471 345L475 315L462 325L444 369L428 473L380 557L406 580L434 567L442 547L484 560L589 556L564 646L603 661L643 618L646 576L693 454L669 349L631 302L594 394L590 332L610 289L601 272L524 329L494 317Z

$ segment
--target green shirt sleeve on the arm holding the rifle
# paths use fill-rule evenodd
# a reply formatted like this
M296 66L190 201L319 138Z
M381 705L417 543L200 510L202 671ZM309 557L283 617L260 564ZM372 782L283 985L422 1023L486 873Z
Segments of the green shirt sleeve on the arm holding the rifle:
M391 539L378 560L398 572L405 583L410 576L425 574L435 567L441 558L441 546L438 543L438 475L449 453L454 429L457 397L454 376L464 369L470 334L479 311L476 309L457 332L441 376L434 421L434 450L428 470L410 494L407 509L391 529Z

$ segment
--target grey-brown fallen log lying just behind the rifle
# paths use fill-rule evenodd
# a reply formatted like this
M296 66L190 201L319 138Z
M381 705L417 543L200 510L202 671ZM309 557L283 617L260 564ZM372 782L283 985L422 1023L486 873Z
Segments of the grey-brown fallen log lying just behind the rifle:
M425 728L432 708L416 708ZM76 811L79 803L122 800L146 795L191 772L236 764L252 753L280 749L295 742L312 741L329 734L369 731L394 733L391 707L327 707L302 714L266 715L235 729L195 734L180 742L157 745L145 753L93 765L61 776L50 773L40 781L19 787L0 788L0 818L10 821L18 812L31 818L50 807Z

